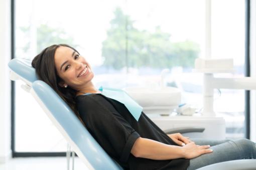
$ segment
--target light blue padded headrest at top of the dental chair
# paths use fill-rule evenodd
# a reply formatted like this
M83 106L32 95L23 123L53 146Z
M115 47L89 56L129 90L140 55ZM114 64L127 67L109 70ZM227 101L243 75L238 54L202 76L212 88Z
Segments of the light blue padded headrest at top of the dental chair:
M36 70L31 66L30 60L14 58L9 61L8 66L13 72L11 75L14 75L11 77L12 80L22 79L30 86L38 80Z

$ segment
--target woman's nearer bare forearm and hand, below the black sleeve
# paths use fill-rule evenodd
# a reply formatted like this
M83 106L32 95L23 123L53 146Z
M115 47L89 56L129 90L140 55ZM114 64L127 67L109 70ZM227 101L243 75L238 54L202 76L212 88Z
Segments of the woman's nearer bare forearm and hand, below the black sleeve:
M167 160L176 158L193 158L204 153L212 152L209 145L196 145L190 142L184 146L169 145L156 140L139 137L131 150L135 157L143 157L155 160Z

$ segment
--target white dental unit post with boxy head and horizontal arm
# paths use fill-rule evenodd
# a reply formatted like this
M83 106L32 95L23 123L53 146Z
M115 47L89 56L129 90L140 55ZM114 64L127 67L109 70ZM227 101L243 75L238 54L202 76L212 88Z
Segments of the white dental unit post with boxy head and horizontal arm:
M193 71L204 73L203 116L215 116L213 110L214 88L256 89L256 77L219 78L213 76L214 73L233 72L233 59L197 58Z

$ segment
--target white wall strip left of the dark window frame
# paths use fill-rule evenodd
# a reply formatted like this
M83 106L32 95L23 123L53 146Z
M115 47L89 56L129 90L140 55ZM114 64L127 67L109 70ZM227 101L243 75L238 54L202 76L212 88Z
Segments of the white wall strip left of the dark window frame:
M11 156L11 0L0 0L0 163Z

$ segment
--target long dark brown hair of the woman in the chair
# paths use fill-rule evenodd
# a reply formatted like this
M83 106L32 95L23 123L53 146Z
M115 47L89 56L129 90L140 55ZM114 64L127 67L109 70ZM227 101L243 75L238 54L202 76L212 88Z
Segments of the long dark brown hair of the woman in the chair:
M35 56L35 58L32 60L32 66L36 68L38 78L49 84L61 96L61 98L71 107L75 114L78 117L80 117L76 109L75 103L75 96L77 90L69 86L66 88L59 86L59 82L63 80L57 74L54 54L56 49L60 46L67 46L69 48L72 48L79 54L79 52L75 48L67 44L54 44L48 46L47 48L42 50L42 52L40 52L37 56Z

